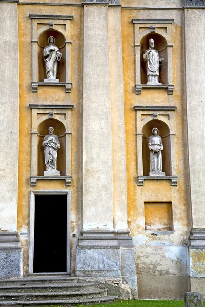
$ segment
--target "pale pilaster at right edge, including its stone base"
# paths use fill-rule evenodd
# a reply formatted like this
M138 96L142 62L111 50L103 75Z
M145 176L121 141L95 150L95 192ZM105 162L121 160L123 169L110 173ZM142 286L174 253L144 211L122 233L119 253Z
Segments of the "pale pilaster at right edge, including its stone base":
M186 50L186 106L188 129L188 157L190 172L190 202L192 231L190 236L191 291L205 295L205 191L204 180L204 67L205 6L203 1L186 1L185 5L185 50ZM203 6L204 9L201 7ZM196 22L197 20L197 22ZM197 35L195 35L197 33Z

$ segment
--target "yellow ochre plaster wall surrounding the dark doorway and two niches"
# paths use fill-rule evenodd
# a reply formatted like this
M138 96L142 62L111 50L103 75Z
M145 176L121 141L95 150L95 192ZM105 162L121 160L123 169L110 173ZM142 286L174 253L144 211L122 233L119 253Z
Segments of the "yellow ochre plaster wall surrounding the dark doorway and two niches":
M71 21L71 79L72 92L65 93L64 87L40 87L37 93L31 92L32 21L29 14L73 15ZM28 232L31 190L64 190L65 181L37 181L30 186L31 174L31 109L29 104L74 104L72 109L71 137L71 274L75 272L75 248L81 230L81 83L82 83L82 21L83 8L71 6L19 5L19 65L20 78L20 126L19 126L19 186L18 186L18 230L23 244L23 271L28 270ZM59 231L51 225L52 231ZM51 231L51 235L52 235ZM72 234L76 238L72 238Z

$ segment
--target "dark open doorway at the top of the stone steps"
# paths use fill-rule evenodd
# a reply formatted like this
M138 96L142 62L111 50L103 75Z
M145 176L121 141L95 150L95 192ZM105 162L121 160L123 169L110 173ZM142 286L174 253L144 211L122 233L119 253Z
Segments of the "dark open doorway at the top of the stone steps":
M33 273L66 269L67 196L35 195Z

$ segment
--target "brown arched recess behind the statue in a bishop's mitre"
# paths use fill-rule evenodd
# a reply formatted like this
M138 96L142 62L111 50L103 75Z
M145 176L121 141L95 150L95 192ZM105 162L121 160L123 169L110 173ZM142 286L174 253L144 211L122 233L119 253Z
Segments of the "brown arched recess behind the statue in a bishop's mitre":
M154 39L154 48L159 52L159 57L164 58L162 64L159 65L159 82L168 84L167 40L158 33L148 33L140 41L141 84L147 84L146 63L143 55L149 49L149 40L151 38Z

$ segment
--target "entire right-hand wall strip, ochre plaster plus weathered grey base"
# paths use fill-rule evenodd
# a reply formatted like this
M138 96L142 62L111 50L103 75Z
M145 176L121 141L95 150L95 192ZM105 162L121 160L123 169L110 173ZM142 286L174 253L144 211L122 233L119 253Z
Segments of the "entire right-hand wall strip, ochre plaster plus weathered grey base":
M125 5L125 1L122 2ZM128 5L128 2L126 2ZM129 5L141 6L142 2L132 1ZM150 2L143 2L150 6ZM153 7L176 7L178 2L153 3ZM136 272L140 298L162 298L162 289L171 287L172 298L182 298L183 291L189 290L187 272L187 247L190 230L189 202L187 190L187 155L185 125L185 67L183 57L183 13L180 10L137 10L122 8L122 46L124 57L124 95L127 155L128 226L136 246ZM166 90L142 89L135 94L134 25L132 19L174 19L172 25L173 43L173 84L174 94ZM178 186L170 181L149 180L144 186L137 186L136 174L136 114L134 105L177 106L175 111L176 132L176 174ZM159 131L160 132L160 131ZM163 152L162 152L163 155ZM146 231L144 202L171 202L173 231ZM149 259L151 262L149 262ZM150 264L149 264L150 263ZM150 273L149 273L150 272ZM153 287L149 289L152 275ZM163 275L159 276L159 275ZM179 284L183 280L183 285ZM183 288L183 289L182 289ZM168 294L167 294L168 295ZM165 296L164 296L165 297ZM169 298L169 296L167 296Z

